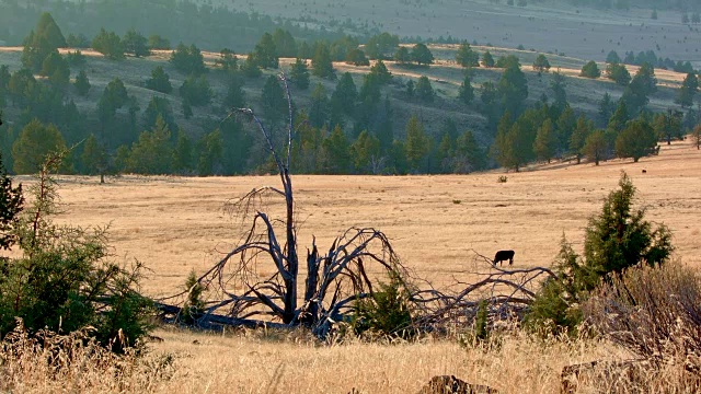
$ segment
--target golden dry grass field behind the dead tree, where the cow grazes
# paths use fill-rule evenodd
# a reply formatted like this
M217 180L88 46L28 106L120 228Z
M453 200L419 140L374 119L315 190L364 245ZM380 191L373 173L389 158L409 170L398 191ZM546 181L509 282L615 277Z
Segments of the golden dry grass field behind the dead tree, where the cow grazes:
M516 266L548 265L563 233L581 247L587 218L617 187L621 171L640 189L648 218L673 229L677 255L686 264L701 266L696 253L701 232L701 153L689 142L663 146L658 157L639 163L535 165L505 174L508 182L503 184L496 182L503 172L295 176L303 220L300 245L311 245L317 236L323 250L349 227L375 227L390 236L406 266L438 285L469 270L471 250L492 255L513 248ZM225 212L229 199L279 183L276 176L128 175L105 185L94 177L60 179L66 209L60 219L81 225L110 224L117 258L137 258L152 269L145 283L152 294L173 293L191 269L203 273L238 241L248 223Z

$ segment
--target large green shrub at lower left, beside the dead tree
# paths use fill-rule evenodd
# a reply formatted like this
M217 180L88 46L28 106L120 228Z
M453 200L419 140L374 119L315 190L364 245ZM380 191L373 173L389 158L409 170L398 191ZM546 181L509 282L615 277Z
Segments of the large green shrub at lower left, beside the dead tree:
M21 257L0 260L0 338L21 317L30 334L93 327L95 339L122 352L150 328L150 302L136 290L142 266L110 262L106 229L51 221L58 194L50 173L60 161L47 159L30 188L34 198L14 229Z

